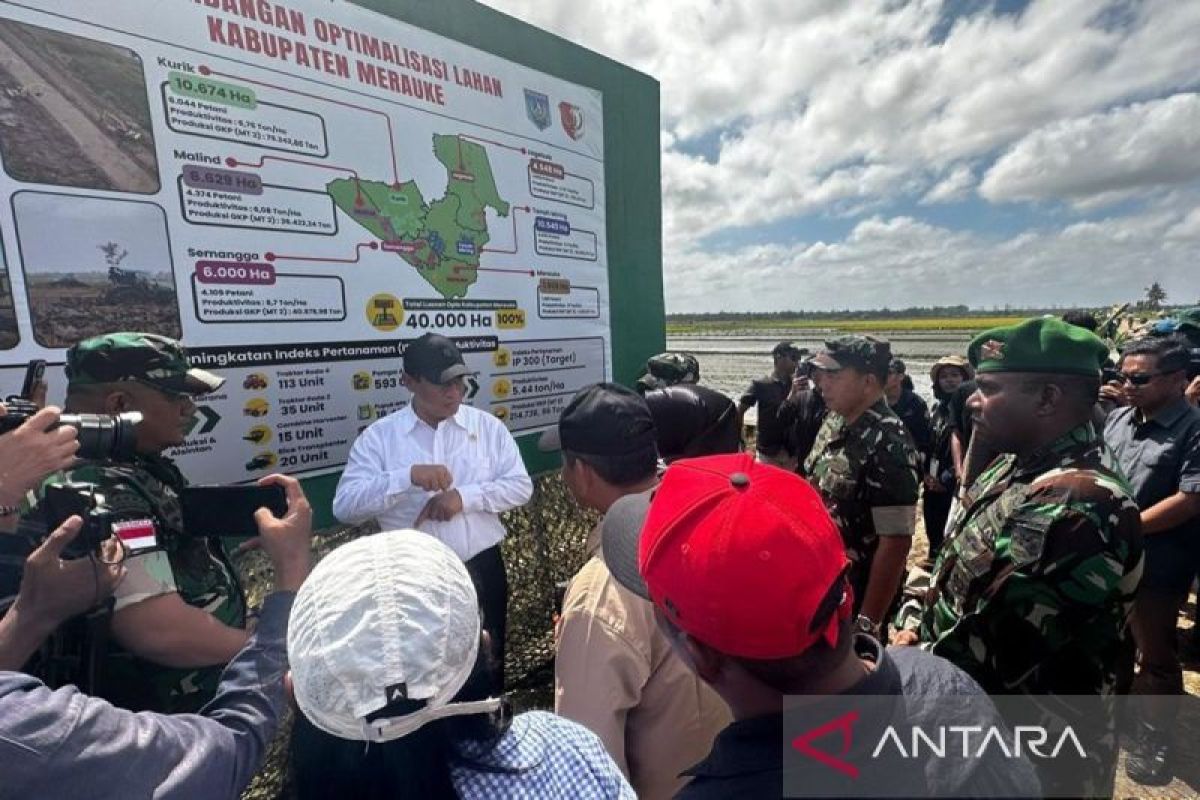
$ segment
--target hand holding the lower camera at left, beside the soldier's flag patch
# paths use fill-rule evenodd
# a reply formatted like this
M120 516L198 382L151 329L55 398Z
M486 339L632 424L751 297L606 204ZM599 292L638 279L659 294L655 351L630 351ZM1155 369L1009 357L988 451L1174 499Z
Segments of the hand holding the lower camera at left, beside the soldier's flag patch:
M116 561L120 555L121 546L112 539L104 542L98 559L61 558L62 549L82 528L83 519L68 517L25 560L25 575L13 610L29 625L53 631L72 616L98 606L125 577L124 565L104 563Z

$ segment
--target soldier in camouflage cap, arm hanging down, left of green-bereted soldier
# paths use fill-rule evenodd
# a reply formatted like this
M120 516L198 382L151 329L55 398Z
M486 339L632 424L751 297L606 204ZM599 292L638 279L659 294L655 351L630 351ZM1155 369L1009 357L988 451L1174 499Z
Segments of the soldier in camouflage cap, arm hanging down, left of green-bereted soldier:
M883 396L890 361L882 339L826 342L812 366L823 373L829 414L804 463L846 546L856 625L876 638L917 527L917 447Z

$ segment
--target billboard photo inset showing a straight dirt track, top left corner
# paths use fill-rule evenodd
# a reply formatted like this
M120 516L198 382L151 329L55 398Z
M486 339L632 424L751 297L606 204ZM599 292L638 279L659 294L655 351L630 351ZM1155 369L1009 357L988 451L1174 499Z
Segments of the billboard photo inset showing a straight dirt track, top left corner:
M0 20L0 155L5 170L28 184L157 192L142 59Z

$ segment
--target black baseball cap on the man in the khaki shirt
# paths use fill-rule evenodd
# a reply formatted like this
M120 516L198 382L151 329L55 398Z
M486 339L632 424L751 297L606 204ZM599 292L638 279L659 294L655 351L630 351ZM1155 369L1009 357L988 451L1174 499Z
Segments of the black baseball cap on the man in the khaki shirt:
M571 398L558 425L541 434L538 449L569 450L581 456L656 452L654 417L642 396L631 389L593 384Z

